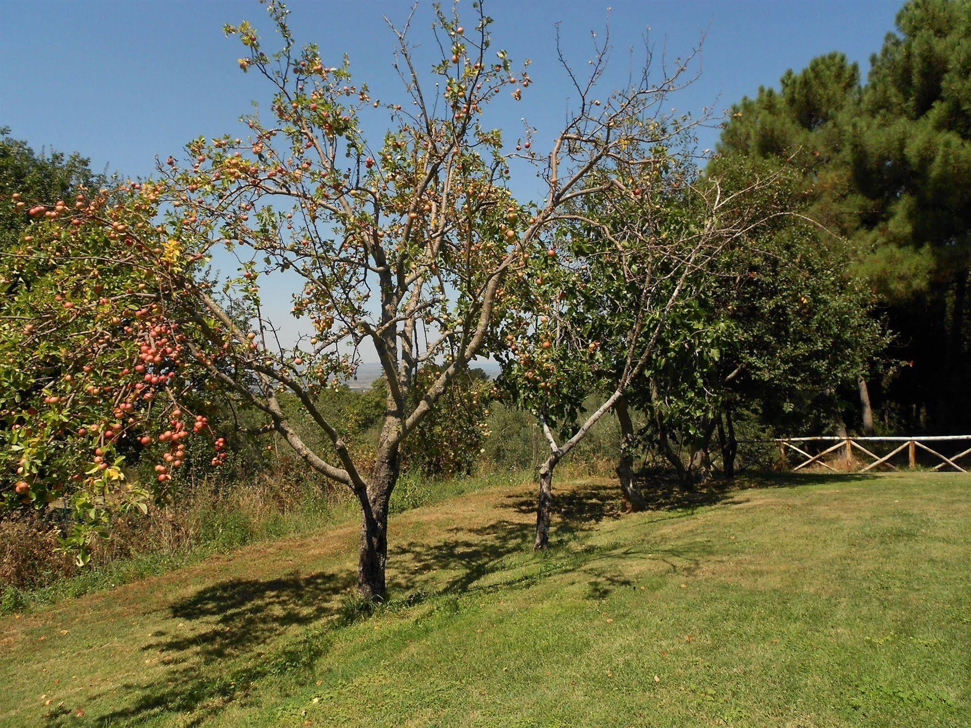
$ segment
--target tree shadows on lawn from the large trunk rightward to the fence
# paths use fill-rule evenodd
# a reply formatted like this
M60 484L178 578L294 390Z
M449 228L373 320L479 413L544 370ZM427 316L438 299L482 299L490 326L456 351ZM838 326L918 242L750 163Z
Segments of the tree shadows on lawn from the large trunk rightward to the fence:
M639 484L648 503L647 511L665 513L660 518L655 516L653 523L656 524L660 520L689 517L708 506L745 503L747 499L743 493L752 488L846 485L875 479L875 476L852 473L767 474L737 480L713 479L693 489L686 489L671 478L646 478ZM416 603L436 593L457 596L469 591L487 593L525 588L557 573L582 570L585 578L590 578L586 582L588 598L603 599L615 589L634 585L619 566L624 559L650 558L665 564L672 574L690 576L712 553L712 546L702 541L686 542L677 547L659 544L584 545L571 549L569 554L564 553L561 546L576 543L584 532L624 514L626 507L616 481L590 482L554 491L552 547L538 555L535 562L525 565L512 559L532 550L534 526L531 519L523 520L521 516L535 513L536 499L532 495L511 494L501 509L517 513L520 518L498 518L482 526L456 525L449 529L448 538L441 543L414 541L396 545L391 558L395 563L399 563L399 559L408 561L411 571L393 580L392 588L395 591L416 590L411 596L411 603ZM599 566L593 567L594 562ZM485 579L510 565L516 568L509 578Z

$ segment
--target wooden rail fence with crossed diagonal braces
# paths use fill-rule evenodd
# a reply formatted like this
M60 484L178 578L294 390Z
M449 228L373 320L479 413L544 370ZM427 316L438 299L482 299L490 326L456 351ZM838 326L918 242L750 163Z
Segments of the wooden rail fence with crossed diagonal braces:
M792 450L799 454L801 457L806 458L799 462L792 472L802 470L803 468L809 467L810 465L821 465L823 468L828 468L832 471L837 471L838 468L834 468L830 463L826 462L825 456L831 455L832 453L839 453L842 450L842 455L847 461L852 461L854 459L854 448L861 452L868 458L869 461L866 467L860 468L859 473L866 473L867 471L873 470L874 468L884 466L890 470L899 470L896 465L890 462L890 459L901 454L903 450L907 450L907 461L911 468L917 467L917 459L919 452L928 452L935 458L940 459L942 462L935 465L931 470L941 470L942 468L954 468L954 470L961 473L967 473L964 468L957 464L957 461L961 458L971 455L971 447L967 449L962 449L950 457L942 454L937 449L933 447L928 447L927 443L933 443L934 447L938 449L943 449L938 443L971 443L971 435L937 435L937 436L927 436L927 437L892 437L892 438L878 438L878 437L863 437L863 438L852 438L852 437L805 437L805 438L776 438L771 441L762 442L773 442L779 444L779 455L782 458L783 463L788 461L788 450ZM813 449L820 445L826 443L835 443L829 447L825 447L820 452L815 455L811 454L807 450ZM886 454L880 455L873 452L871 449L866 447L865 444L870 445L874 449L877 443L889 443L891 449ZM902 454L901 454L902 457Z

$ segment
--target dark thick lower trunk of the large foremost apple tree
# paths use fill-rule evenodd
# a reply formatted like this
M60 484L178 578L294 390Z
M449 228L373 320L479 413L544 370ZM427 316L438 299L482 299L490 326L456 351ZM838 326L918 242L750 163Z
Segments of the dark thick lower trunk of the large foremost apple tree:
M387 507L400 472L397 450L379 454L361 504L361 539L357 562L357 594L367 602L384 602L387 596Z

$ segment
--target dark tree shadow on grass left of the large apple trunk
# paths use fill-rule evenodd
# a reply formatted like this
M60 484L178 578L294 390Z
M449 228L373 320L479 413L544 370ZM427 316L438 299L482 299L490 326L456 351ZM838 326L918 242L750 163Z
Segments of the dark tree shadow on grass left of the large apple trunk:
M170 669L152 682L129 682L115 694L134 696L127 705L91 716L97 724L132 723L167 712L191 713L183 725L198 725L227 704L246 699L254 683L270 675L310 668L329 648L335 625L348 618L337 597L351 574L320 572L279 579L226 579L169 606L178 632L156 631L142 651ZM283 645L272 645L287 628L303 629ZM78 725L63 711L47 716L50 726Z

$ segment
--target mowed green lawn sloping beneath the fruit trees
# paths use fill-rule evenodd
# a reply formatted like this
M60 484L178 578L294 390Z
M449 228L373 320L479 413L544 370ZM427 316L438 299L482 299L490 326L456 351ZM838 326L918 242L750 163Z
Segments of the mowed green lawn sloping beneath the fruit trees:
M0 724L971 724L971 478L806 476L620 513L610 480L247 546L0 619Z

